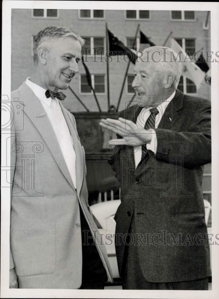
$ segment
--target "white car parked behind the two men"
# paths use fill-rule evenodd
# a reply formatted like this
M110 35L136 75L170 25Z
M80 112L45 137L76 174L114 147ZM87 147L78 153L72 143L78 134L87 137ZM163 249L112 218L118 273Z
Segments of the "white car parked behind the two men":
M99 233L103 236L103 242L106 245L107 255L109 258L109 264L112 269L113 278L119 277L118 265L115 254L115 220L114 216L118 206L120 205L120 199L110 200L106 202L100 202L95 205L91 205L90 209L93 214L93 219L97 225ZM205 221L208 223L209 213L211 209L210 203L204 199L205 205ZM208 228L208 234L210 234L212 228ZM210 246L211 254L211 246ZM212 257L211 257L212 260Z

